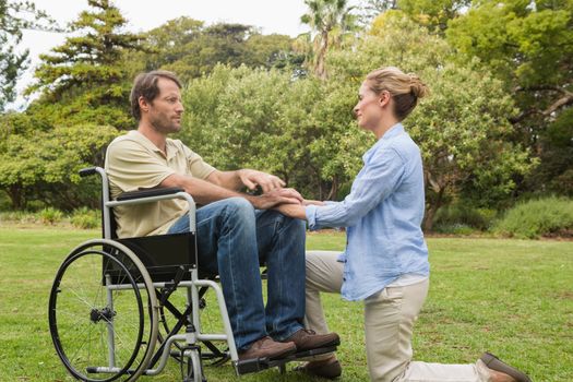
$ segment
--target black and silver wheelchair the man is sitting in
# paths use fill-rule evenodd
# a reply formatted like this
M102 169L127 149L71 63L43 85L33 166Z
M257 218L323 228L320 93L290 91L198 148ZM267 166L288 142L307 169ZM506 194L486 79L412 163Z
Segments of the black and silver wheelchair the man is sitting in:
M85 168L81 177L102 178L103 238L87 240L63 260L49 296L48 321L56 353L81 381L134 381L157 375L171 358L183 382L204 382L204 361L230 361L237 375L336 350L300 351L282 359L239 360L222 288L196 260L195 203L179 188L127 192L110 200L106 172ZM112 208L179 198L189 203L190 231L117 238ZM183 291L184 307L170 298ZM201 311L213 290L220 333L204 333ZM169 317L169 319L167 318ZM217 344L217 345L215 345ZM223 344L223 345L222 345Z

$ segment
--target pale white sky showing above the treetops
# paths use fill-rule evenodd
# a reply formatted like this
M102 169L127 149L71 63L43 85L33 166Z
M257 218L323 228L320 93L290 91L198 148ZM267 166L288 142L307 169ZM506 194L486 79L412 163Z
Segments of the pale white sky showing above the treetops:
M80 12L87 10L87 0L33 0L36 8L46 11L60 25L74 21ZM306 12L303 0L115 0L129 21L131 32L145 32L168 20L189 16L207 24L217 22L240 23L261 28L263 34L279 33L297 36L308 32L300 24ZM29 69L22 74L16 102L11 108L22 108L26 100L22 91L33 82L34 68L40 62L38 56L63 44L64 34L25 31L22 49L29 49Z

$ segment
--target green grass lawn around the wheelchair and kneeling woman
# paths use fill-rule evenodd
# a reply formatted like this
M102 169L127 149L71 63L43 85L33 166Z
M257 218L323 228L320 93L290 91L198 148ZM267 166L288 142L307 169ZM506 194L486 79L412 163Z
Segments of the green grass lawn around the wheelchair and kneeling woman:
M0 228L0 380L69 381L57 358L47 300L67 253L97 230ZM311 234L310 249L337 250L343 234ZM430 295L415 329L415 359L474 362L484 350L526 370L534 381L573 381L573 242L499 239L428 240ZM362 305L324 298L343 344L341 381L368 380ZM170 361L143 381L177 381ZM206 368L208 381L237 380L229 365ZM311 381L267 370L241 381Z

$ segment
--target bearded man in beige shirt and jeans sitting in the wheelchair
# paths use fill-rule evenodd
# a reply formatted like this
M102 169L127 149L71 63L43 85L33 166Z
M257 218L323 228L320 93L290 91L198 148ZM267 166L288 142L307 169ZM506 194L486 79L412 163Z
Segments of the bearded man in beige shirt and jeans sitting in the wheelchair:
M111 196L140 189L179 187L196 211L200 268L218 274L240 359L278 359L339 343L336 333L315 334L305 317L305 224L273 210L301 203L277 177L252 170L219 171L168 134L181 129L181 84L174 73L138 75L131 109L138 130L108 147ZM241 193L262 189L261 195ZM188 203L172 199L115 208L120 238L189 230ZM267 266L267 303L260 264Z

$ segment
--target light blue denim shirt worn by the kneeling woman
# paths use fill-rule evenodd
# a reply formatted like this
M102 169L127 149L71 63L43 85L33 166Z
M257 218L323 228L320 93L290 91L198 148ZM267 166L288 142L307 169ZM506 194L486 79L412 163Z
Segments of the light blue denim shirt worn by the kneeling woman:
M362 156L363 167L342 202L308 205L310 229L346 227L342 295L362 300L404 274L428 276L420 151L401 123Z

